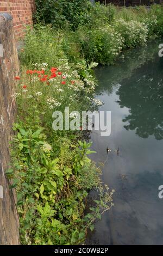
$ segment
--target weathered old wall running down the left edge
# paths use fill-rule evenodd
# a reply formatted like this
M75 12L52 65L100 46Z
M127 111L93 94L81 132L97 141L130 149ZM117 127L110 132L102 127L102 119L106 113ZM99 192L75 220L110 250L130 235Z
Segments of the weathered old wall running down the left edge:
M18 72L12 17L7 13L0 14L0 245L17 245L19 241L14 194L5 176L15 115L14 77Z

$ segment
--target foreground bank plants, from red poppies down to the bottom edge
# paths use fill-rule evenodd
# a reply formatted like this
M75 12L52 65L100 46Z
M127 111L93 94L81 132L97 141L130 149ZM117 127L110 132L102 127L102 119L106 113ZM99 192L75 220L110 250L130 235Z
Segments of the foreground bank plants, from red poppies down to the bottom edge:
M60 61L51 68L35 64L15 77L18 117L6 174L17 192L23 245L82 243L93 222L113 205L114 191L103 186L101 171L87 157L91 143L79 139L82 131L52 130L53 111L67 105L78 111L96 108L89 72L95 64L78 63L77 71ZM81 80L79 72L87 76ZM97 200L85 211L89 190L97 191Z

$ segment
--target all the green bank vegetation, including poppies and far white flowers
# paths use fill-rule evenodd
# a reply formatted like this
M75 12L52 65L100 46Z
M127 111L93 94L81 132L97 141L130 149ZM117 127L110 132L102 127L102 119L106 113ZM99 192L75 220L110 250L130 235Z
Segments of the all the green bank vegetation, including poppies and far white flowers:
M54 131L54 111L98 109L93 68L112 64L123 50L163 33L163 9L116 8L89 1L36 0L34 29L27 28L15 77L17 121L7 170L17 191L21 242L70 245L109 210L112 193L87 155L88 132ZM81 124L82 125L82 124ZM85 211L89 190L98 198Z

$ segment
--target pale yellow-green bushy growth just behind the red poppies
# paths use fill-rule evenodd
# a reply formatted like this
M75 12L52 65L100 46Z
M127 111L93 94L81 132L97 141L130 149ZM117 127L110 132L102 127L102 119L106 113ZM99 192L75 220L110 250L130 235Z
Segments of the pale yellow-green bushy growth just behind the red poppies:
M58 65L58 59L65 58L61 42L63 33L51 26L35 25L34 29L27 28L24 47L20 51L21 63L31 68L35 63L47 63L49 66Z

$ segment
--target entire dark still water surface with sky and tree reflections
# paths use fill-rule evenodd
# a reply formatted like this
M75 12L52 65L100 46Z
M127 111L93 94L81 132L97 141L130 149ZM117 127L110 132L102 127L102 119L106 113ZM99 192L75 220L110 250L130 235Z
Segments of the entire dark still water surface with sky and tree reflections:
M154 41L96 70L100 111L111 111L111 135L93 131L92 156L115 206L87 237L92 245L163 245L163 57ZM106 154L106 146L112 150ZM120 154L114 152L120 149Z

